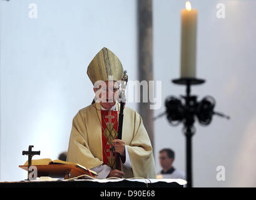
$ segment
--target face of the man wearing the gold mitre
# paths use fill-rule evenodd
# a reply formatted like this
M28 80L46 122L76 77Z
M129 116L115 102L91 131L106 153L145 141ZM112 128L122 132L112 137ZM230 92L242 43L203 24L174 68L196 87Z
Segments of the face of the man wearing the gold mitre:
M118 99L119 84L116 81L101 82L93 88L95 96L101 106L106 109L112 108Z

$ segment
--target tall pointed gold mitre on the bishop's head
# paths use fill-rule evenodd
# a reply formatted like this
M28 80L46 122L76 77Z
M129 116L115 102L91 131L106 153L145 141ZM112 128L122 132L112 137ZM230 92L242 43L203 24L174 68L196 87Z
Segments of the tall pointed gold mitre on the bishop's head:
M110 81L110 77L111 81L120 81L123 76L123 66L110 49L103 47L89 64L87 74L93 85L96 81Z

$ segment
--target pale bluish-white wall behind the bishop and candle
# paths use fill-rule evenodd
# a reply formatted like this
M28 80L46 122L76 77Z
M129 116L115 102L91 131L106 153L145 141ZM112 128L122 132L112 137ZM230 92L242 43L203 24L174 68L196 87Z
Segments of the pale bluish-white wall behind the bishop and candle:
M197 76L207 80L192 88L199 99L211 95L216 110L212 124L196 124L193 137L193 178L197 187L256 186L256 2L191 1L198 9ZM38 17L29 18L29 4ZM216 16L225 4L225 19ZM153 64L161 81L161 108L166 96L185 93L171 79L180 76L180 10L185 1L153 1ZM18 165L30 144L38 158L57 159L68 148L71 123L79 109L91 103L92 84L86 69L102 47L113 51L137 79L135 0L0 1L1 11L1 132L0 179L22 180ZM127 106L137 109L136 103ZM158 151L175 150L174 166L185 171L185 136L165 118L155 121L155 161ZM217 166L225 181L217 181Z

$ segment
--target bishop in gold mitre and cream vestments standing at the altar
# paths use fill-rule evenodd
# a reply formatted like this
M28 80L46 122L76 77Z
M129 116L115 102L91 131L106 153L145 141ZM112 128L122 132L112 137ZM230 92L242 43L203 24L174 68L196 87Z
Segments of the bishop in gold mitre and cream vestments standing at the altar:
M96 171L98 178L155 178L150 138L140 114L127 106L123 111L122 138L117 138L120 104L116 100L123 75L120 60L103 47L89 64L87 74L95 98L73 118L67 161ZM120 154L119 161L111 151L113 146Z

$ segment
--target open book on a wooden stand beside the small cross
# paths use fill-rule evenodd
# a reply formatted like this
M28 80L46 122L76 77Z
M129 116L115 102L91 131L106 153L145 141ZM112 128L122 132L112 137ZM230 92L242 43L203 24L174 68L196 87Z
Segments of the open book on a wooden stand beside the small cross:
M51 176L56 178L65 176L65 179L67 179L83 174L93 178L96 178L98 175L95 171L81 166L78 163L70 163L58 159L54 161L49 158L34 159L31 161L31 166L36 166L38 169L38 176ZM28 161L26 161L23 166L19 166L19 168L28 170Z

